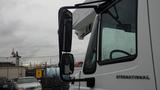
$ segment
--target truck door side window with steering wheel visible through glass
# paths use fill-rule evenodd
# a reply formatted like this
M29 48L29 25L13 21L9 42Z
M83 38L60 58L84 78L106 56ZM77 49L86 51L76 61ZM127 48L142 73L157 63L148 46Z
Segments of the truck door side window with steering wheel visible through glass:
M137 0L122 0L101 16L99 64L135 59L136 38Z

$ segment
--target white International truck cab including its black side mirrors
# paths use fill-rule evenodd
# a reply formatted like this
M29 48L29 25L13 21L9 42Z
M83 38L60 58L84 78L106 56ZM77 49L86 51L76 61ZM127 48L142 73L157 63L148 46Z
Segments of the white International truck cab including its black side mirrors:
M62 78L71 75L63 79L72 82L70 90L160 90L159 4L160 0L100 0L61 8L67 13L76 9L67 14L69 19L59 17L59 66ZM79 39L91 33L83 69L76 76L72 29Z

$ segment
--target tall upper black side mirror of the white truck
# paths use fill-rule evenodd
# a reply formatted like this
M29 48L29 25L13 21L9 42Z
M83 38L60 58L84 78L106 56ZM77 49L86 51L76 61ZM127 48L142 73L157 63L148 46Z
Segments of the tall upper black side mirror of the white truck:
M58 19L60 50L70 52L72 43L72 13L65 8L61 8L58 13Z

